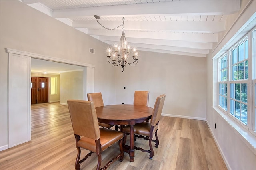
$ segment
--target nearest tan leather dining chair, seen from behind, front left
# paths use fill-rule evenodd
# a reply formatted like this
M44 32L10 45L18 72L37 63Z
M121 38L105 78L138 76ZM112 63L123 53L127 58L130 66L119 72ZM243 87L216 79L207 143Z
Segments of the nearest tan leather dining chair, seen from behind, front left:
M94 102L68 100L67 103L76 138L77 156L75 169L79 170L80 164L95 152L98 157L97 170L100 170L101 153L116 142L119 144L120 154L110 160L101 170L108 168L118 158L122 161L124 158L122 148L124 134L116 130L99 128ZM90 151L82 160L80 160L81 148Z

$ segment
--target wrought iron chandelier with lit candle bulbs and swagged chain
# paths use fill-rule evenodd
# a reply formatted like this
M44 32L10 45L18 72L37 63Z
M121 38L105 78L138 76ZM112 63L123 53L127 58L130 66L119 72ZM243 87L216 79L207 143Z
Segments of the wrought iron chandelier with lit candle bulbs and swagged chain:
M98 21L98 19L100 19L100 17L97 15L95 15L94 17L96 18L96 21L100 24L100 22ZM102 26L102 24L100 24L100 25ZM122 36L120 38L120 44L114 45L113 49L109 48L107 57L108 57L108 62L113 64L114 66L121 65L122 72L123 72L126 64L136 65L138 63L138 52L136 51L136 48L134 47L134 49L132 51L132 53L133 53L132 58L130 57L131 48L128 45L128 43L126 42L125 33L124 33L124 17L123 17L123 23L120 24L120 26L122 26ZM118 27L120 27L120 26L118 26ZM115 30L116 28L118 28L118 27L106 28L104 26L102 26L102 27L107 30ZM128 59L130 60L130 62L128 61Z

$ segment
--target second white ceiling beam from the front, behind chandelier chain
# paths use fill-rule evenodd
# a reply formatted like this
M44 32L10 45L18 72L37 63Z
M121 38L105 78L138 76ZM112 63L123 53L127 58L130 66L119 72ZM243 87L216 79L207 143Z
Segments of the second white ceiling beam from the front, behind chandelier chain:
M122 21L100 21L106 28L116 28ZM94 21L73 21L72 27L102 29L96 19ZM125 21L125 30L166 30L173 32L214 33L225 31L224 21ZM119 27L121 30L122 27Z

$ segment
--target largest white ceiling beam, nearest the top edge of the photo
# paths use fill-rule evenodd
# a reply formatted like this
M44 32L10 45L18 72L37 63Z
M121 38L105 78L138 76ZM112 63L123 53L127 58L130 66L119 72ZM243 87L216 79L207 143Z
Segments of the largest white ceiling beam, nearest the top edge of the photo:
M54 18L70 18L79 16L145 16L145 15L222 15L233 14L240 9L238 0L182 0L147 4L130 4L118 6L98 6L90 8L74 8L54 10Z

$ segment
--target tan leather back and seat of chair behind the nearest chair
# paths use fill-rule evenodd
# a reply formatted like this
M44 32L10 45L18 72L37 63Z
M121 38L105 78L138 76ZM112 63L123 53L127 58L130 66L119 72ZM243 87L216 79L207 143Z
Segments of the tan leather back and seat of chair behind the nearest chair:
M99 93L87 93L87 99L88 99L89 101L93 101L95 107L104 106L103 99L102 99L102 94L101 94L100 92L99 92ZM109 124L100 123L100 122L99 122L99 125L100 125L101 127L106 127L106 128L108 128L108 129L110 129L111 127L114 126L114 125L109 125ZM117 130L117 129L116 129L116 130Z

